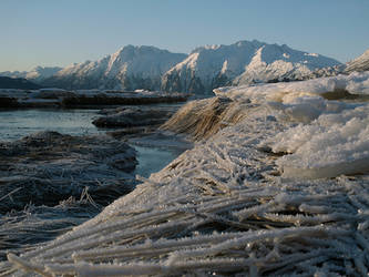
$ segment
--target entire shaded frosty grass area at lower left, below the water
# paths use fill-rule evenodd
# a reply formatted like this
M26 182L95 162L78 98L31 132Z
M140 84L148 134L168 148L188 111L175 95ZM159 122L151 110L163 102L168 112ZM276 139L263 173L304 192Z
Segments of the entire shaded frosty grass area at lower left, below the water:
M104 135L0 142L0 259L50 240L131 192L136 152Z

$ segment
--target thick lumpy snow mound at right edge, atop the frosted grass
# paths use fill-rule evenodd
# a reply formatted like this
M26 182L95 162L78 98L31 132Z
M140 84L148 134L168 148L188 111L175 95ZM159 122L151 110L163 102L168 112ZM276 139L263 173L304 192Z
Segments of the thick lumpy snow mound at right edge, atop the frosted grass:
M310 124L270 138L273 152L293 153L277 161L284 176L335 177L369 173L369 105L322 114Z

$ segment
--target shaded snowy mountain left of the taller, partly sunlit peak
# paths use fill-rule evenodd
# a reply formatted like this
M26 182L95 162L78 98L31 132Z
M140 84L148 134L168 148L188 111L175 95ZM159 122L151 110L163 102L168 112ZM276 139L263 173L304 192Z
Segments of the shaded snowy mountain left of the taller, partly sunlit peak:
M160 90L162 75L187 55L126 45L99 61L72 64L43 85L63 89Z

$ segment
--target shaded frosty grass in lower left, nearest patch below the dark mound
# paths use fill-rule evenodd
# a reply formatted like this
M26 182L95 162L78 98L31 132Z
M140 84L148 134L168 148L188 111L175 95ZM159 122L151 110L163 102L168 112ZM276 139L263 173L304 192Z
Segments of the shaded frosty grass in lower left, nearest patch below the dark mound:
M27 205L22 211L11 211L0 218L0 259L9 250L21 253L37 247L72 229L101 212L85 188L80 198L73 196L55 206Z

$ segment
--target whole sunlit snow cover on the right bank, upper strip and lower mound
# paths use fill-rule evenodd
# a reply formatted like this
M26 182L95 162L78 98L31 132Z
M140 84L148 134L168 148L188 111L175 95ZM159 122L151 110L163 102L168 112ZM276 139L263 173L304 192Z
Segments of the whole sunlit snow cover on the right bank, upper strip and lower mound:
M342 91L369 94L369 72L215 90L216 94L235 101L266 103L278 120L299 123L260 143L275 153L290 153L277 164L285 177L295 178L369 172L369 105L325 99L334 92L339 98Z

